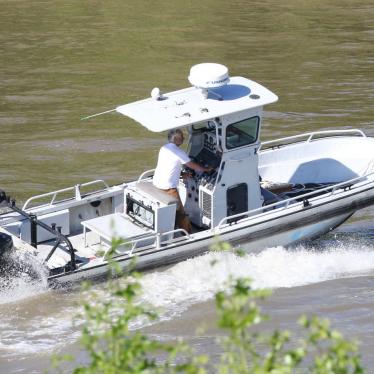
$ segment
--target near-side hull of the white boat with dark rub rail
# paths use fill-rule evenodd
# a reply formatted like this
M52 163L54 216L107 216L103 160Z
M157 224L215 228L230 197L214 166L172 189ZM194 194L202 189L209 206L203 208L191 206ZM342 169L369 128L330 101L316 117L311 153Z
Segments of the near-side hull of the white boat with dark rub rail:
M347 191L346 194L350 193ZM167 266L206 253L216 243L216 235L234 247L240 246L247 252L256 252L275 246L290 246L313 240L333 230L346 221L357 209L374 203L374 189L362 191L352 196L335 199L317 206L300 208L297 213L285 213L271 220L257 220L246 224L245 219L236 224L226 225L218 230L210 230L205 235L195 234L191 240L159 249L140 251L136 255L135 269L147 270ZM133 257L117 257L123 271L133 268ZM108 264L50 277L53 284L74 283L82 279L93 279L110 274Z

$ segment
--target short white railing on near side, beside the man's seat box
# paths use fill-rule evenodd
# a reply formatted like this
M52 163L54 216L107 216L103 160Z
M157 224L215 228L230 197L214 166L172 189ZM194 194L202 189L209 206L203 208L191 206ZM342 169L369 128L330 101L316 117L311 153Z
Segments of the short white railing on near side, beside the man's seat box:
M182 236L175 237L175 234L182 234ZM171 235L172 235L171 239L162 240L163 237L165 237L165 236L168 237L168 236L171 236ZM139 246L139 244L141 244L142 242L145 242L146 244L144 246L146 246L147 243L150 240L153 240L153 244L151 245L152 248L160 249L164 245L180 242L180 241L183 241L183 240L189 240L189 239L191 239L191 236L184 229L175 229L175 230L171 230L171 231L167 231L167 232L163 232L163 233L151 233L149 235L143 236L143 237L138 238L138 239L126 241L124 243L125 248L123 248L123 249L117 248L115 250L115 253L117 255L128 255L128 256L131 257L131 256L133 256L134 251L136 249L143 249L143 246ZM128 249L129 246L131 246L131 249Z

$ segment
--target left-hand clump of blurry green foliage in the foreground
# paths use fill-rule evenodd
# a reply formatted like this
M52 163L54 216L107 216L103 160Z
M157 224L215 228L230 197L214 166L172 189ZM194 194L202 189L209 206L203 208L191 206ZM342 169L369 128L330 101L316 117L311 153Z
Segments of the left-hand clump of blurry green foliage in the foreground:
M123 285L121 280L110 282L106 287L107 300L92 300L84 304L81 343L90 357L90 364L79 367L74 373L204 373L203 356L194 357L191 349L183 342L163 343L151 339L140 330L131 329L131 323L141 319L152 321L157 314L137 302L141 286L139 276L128 276ZM160 361L159 355L165 356ZM188 357L176 364L180 355Z

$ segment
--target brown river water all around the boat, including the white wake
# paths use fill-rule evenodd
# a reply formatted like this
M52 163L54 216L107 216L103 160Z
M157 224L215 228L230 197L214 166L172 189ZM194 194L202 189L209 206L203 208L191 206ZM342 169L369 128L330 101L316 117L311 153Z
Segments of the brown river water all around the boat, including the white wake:
M271 0L80 2L3 1L0 10L0 185L22 203L31 195L102 178L120 183L154 166L163 134L117 114L89 114L188 85L191 65L212 61L277 93L264 140L305 131L361 128L374 135L373 2ZM228 273L274 290L263 308L273 327L295 330L317 313L374 344L373 209L337 235L294 251L269 248L235 258L212 254L144 277L144 299L161 311L147 327L219 355L212 297ZM323 251L322 251L323 249ZM83 296L56 292L27 273L0 292L0 372L41 372L54 353L78 353ZM100 285L97 285L100 292ZM212 322L213 321L213 322ZM195 327L207 332L195 334Z

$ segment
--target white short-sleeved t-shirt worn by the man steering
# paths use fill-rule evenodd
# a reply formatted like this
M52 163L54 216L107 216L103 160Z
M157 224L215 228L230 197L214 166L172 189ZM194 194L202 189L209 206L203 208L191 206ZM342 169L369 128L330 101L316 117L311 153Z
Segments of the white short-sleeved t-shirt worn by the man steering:
M158 154L153 184L162 190L177 188L182 165L190 161L191 159L183 149L174 143L165 144Z

